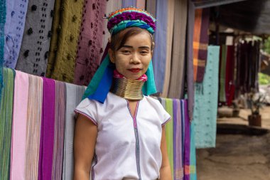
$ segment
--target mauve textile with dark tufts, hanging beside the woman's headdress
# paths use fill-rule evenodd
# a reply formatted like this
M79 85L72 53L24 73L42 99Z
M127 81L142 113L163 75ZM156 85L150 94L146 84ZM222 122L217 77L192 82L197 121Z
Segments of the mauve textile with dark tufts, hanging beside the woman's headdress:
M105 1L85 1L75 60L74 83L77 85L88 85L99 67L104 52L102 36L105 33L105 8Z

